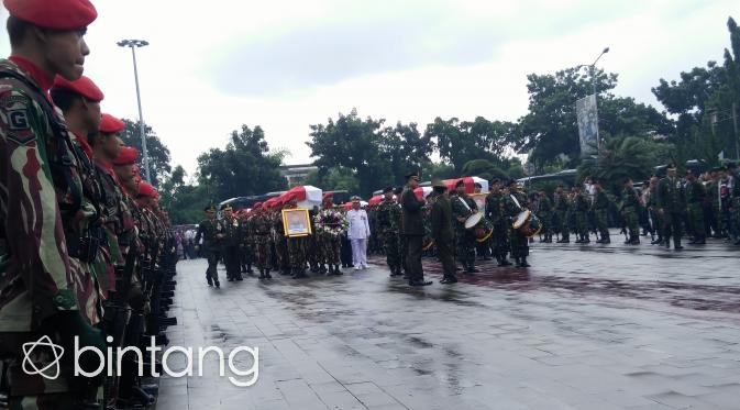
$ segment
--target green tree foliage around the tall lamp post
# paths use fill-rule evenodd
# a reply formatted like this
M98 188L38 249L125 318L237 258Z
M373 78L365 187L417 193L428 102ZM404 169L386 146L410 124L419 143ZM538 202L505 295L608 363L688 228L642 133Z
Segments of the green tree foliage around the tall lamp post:
M123 123L125 124L125 130L121 133L121 140L124 145L133 146L141 153L137 163L142 170L142 176L144 176L144 151L142 149L139 121L134 122L123 119ZM151 182L155 187L159 187L159 181L172 170L169 165L169 149L162 143L154 130L146 125L146 123L144 124L144 133L146 135L146 152L150 157Z

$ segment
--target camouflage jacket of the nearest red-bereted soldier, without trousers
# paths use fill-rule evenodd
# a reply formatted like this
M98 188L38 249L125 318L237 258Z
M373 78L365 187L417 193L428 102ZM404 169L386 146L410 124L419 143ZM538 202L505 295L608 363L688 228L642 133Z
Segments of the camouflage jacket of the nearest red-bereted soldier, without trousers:
M0 71L0 332L27 332L88 306L95 284L67 253L63 213L80 214L84 198L63 115L14 63Z

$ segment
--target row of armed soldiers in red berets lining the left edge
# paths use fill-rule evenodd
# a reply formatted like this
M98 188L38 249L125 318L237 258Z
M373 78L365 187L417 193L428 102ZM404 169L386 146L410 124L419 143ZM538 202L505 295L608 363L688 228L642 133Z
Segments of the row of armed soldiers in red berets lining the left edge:
M0 397L11 409L150 406L133 356L109 369L74 346L166 344L174 235L142 181L124 123L101 114L103 93L82 76L87 0L4 0L11 56L0 60ZM48 337L51 345L24 344ZM29 363L32 365L29 366ZM155 368L155 363L145 363ZM43 369L58 366L48 376ZM151 366L150 366L151 365ZM29 368L42 369L29 372ZM106 375L120 375L109 376Z

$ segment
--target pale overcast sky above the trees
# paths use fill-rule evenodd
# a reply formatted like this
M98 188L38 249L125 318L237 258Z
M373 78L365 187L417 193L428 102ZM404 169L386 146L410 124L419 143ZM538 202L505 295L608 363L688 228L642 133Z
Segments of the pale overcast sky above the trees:
M617 95L656 106L659 78L721 60L737 0L98 0L85 74L103 111L144 121L191 175L242 123L262 125L287 164L309 162L309 124L362 117L510 120L527 112L527 74L590 64L619 74ZM2 20L7 11L2 10ZM7 55L7 35L0 44Z

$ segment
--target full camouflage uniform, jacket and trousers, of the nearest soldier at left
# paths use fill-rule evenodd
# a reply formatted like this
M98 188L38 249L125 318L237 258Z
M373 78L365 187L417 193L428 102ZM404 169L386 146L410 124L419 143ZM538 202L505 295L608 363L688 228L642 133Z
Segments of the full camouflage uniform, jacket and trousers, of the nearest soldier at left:
M86 229L100 215L86 198L85 154L41 85L15 63L0 60L0 221L5 223L0 229L0 356L9 358L3 370L12 408L70 409L79 396L79 387L68 383L71 368L54 380L27 375L21 347L47 334L65 350L71 351L78 336L80 346L104 351L91 328L101 311L90 268L99 247L89 240L100 237ZM52 358L44 347L27 357L36 368ZM96 389L98 381L88 386Z

